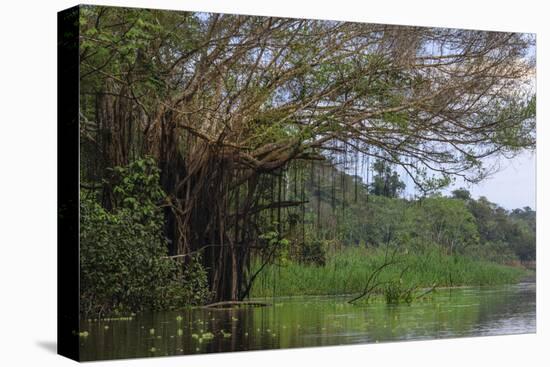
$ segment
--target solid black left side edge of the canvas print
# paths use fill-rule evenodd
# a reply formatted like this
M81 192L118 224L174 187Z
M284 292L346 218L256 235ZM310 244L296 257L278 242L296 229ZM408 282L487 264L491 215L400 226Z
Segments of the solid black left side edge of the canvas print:
M57 13L57 353L79 361L79 15Z

